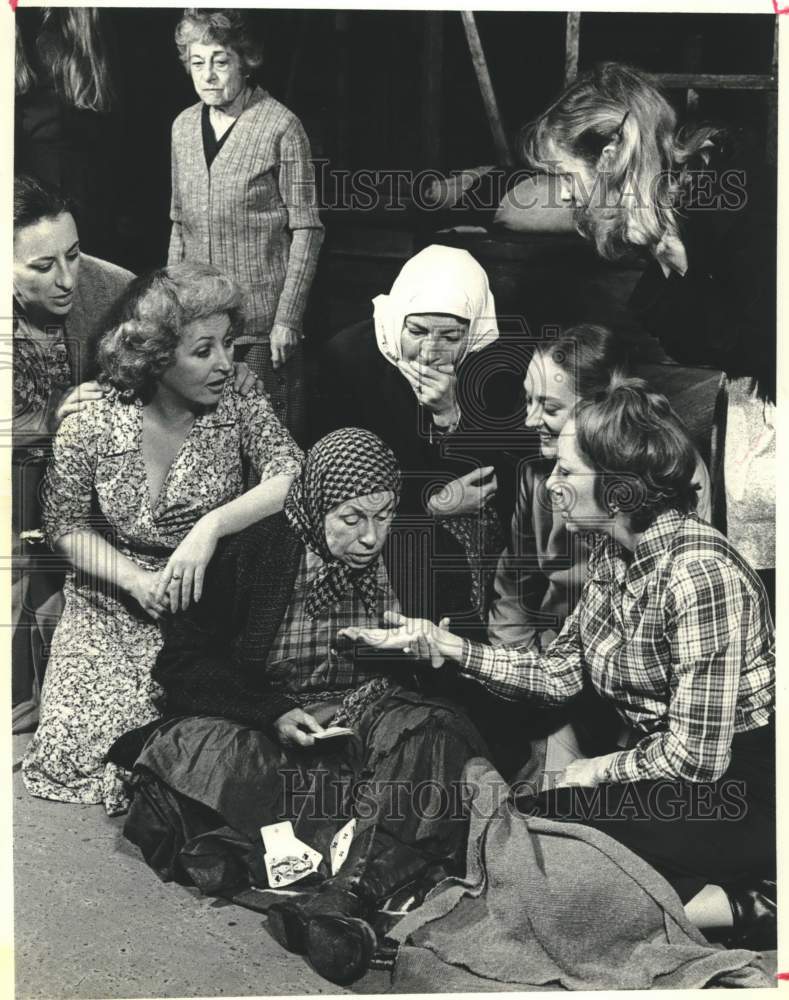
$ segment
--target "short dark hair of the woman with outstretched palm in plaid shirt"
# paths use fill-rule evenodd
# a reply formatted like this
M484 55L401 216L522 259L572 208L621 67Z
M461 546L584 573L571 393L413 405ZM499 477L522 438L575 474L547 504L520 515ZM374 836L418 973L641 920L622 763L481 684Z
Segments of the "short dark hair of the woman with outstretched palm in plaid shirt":
M610 386L575 408L575 444L597 470L595 499L645 531L665 510L696 509L697 454L671 404L638 378Z

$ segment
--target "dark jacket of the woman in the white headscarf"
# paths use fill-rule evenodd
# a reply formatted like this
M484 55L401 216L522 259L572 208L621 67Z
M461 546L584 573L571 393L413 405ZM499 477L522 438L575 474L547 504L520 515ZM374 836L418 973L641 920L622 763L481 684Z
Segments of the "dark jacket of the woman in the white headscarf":
M528 358L523 340L521 336L515 344L502 338L462 362L458 402L463 416L447 435L435 432L405 377L379 351L372 320L336 334L318 359L313 439L338 427L363 427L385 441L400 463L403 491L389 550L400 546L402 555L394 562L409 578L401 579L397 565L390 567L404 612L434 619L449 615L454 627L471 629L477 638L483 634L484 609L480 615L472 597L464 550L426 512L425 502L443 484L492 465L498 519L501 525L509 523L525 436L521 385ZM487 550L489 583L503 544L497 531Z

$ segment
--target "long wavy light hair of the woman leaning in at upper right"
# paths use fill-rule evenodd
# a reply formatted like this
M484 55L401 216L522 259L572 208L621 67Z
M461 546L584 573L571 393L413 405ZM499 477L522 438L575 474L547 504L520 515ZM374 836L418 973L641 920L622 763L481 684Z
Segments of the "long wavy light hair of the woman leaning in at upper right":
M549 172L562 152L588 164L596 198L576 221L611 259L633 244L660 242L673 225L688 164L720 131L678 130L674 109L648 74L607 62L579 76L526 126L522 151Z

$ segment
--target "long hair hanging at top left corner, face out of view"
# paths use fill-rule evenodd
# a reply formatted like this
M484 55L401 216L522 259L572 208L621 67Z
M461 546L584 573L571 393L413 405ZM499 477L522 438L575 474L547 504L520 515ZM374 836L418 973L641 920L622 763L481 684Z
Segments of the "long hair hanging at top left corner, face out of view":
M115 91L110 74L101 12L95 7L46 7L36 37L38 73L16 28L15 89L26 94L46 74L55 93L70 107L111 111Z

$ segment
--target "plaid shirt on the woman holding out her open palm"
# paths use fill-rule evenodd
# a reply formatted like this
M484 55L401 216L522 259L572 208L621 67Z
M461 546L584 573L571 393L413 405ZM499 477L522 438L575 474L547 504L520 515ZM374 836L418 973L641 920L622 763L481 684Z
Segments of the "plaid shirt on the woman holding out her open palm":
M542 656L464 641L465 673L498 694L548 703L584 673L641 738L617 753L614 781L715 781L735 733L773 711L775 651L764 590L723 535L695 515L661 514L630 562L593 545L583 593Z

